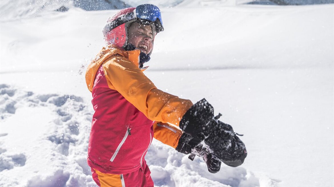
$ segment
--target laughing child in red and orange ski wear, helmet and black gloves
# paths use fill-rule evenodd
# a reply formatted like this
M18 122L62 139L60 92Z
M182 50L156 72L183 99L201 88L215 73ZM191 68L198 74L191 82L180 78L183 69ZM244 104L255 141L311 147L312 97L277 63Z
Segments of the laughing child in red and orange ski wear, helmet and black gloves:
M213 108L205 99L193 105L158 90L143 74L154 38L163 30L160 10L154 5L117 12L103 29L108 46L87 69L95 110L87 161L101 187L153 187L145 161L153 137L179 152L192 153L189 158L193 159L193 154L203 157L211 173L219 171L220 160L237 166L246 155L233 130L228 129L227 135L222 130L229 125L213 118ZM233 150L226 149L226 138L219 138L222 135L234 138ZM207 145L201 144L202 140Z

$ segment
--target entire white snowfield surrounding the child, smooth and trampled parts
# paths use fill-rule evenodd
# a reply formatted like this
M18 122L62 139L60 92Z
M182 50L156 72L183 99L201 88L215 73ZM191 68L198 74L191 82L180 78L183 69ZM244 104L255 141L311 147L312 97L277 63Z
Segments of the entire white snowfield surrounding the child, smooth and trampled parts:
M145 74L170 94L205 97L244 134L247 158L211 174L201 158L154 140L146 160L155 185L333 187L333 4L218 5L162 8ZM96 186L84 75L115 12L1 17L0 186Z

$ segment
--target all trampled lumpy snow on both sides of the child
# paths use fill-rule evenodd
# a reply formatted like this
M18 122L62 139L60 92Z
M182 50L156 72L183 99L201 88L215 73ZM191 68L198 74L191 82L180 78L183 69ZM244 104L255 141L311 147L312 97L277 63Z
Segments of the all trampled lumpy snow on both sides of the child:
M75 95L35 94L5 84L0 85L0 93L0 186L96 186L86 162L93 115L87 107L90 103ZM224 165L211 174L201 158L191 161L188 155L157 140L146 160L155 185L160 187L278 184L243 167Z

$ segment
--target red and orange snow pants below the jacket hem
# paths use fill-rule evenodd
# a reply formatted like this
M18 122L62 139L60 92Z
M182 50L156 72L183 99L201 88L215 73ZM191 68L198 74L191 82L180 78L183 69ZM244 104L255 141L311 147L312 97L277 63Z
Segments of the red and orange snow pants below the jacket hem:
M132 173L109 174L102 173L92 168L94 181L100 187L153 187L153 180L150 176L151 171L148 165Z

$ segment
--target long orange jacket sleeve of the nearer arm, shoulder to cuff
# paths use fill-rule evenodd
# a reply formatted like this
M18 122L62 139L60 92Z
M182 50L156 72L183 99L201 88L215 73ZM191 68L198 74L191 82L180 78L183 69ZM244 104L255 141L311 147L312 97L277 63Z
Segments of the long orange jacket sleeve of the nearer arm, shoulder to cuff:
M185 112L193 105L190 100L157 89L151 80L127 58L108 58L103 70L109 88L117 90L152 121L179 125Z

